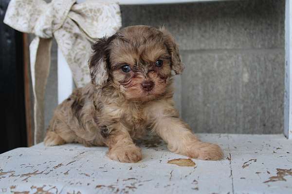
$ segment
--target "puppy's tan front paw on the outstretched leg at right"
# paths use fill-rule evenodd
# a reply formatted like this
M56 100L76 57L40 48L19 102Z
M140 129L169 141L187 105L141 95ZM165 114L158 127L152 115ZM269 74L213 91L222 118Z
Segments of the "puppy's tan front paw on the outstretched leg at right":
M223 158L223 152L216 144L196 142L188 148L187 156L201 160L217 161Z

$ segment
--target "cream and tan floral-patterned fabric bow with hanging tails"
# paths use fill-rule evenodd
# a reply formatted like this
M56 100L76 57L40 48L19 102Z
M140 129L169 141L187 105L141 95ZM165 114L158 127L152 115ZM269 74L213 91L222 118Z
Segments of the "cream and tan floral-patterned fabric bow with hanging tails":
M77 87L90 81L87 61L91 42L111 35L121 27L120 7L115 2L87 0L11 0L4 23L26 33L34 33L30 63L34 103L34 141L41 142L44 130L44 95L51 62L52 38L69 64Z

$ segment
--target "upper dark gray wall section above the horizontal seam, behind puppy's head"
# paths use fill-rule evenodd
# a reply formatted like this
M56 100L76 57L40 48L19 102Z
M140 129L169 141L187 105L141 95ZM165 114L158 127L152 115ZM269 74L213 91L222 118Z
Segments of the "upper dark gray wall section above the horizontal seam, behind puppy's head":
M180 49L284 46L284 0L121 6L123 27L165 26Z

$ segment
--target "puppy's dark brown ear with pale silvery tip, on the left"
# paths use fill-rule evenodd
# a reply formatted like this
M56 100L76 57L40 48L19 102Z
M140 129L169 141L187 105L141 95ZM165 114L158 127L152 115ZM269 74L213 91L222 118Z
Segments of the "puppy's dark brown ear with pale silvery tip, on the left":
M91 83L104 86L109 79L109 44L114 35L100 38L92 45L93 54L89 60Z

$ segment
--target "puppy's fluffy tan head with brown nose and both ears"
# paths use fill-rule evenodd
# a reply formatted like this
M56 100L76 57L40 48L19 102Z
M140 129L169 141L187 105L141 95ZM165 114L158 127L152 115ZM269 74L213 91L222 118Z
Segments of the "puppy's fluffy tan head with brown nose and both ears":
M183 71L178 47L164 28L130 26L93 46L94 85L112 84L129 100L148 101L167 91L171 70Z

